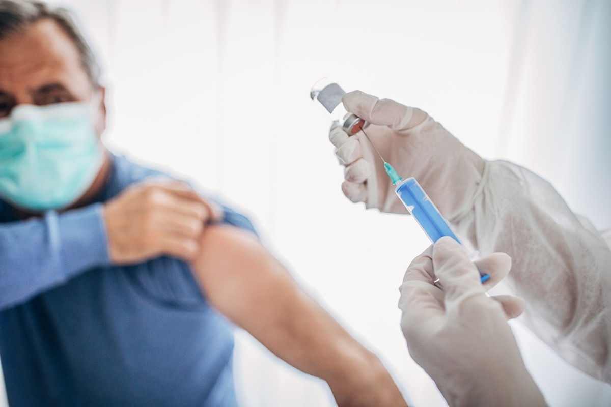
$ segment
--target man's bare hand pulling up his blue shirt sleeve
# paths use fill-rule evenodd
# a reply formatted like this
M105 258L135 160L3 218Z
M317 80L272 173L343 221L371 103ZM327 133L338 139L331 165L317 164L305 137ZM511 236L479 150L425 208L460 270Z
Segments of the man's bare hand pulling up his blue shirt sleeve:
M217 204L185 182L133 185L104 204L111 261L130 264L162 255L188 261L199 250L205 224L221 215Z

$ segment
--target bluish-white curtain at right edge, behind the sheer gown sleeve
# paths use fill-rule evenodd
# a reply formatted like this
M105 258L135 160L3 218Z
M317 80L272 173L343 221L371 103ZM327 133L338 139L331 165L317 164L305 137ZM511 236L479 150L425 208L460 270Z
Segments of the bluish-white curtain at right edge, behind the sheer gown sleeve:
M599 229L610 228L611 2L525 0L516 27L497 154L552 182ZM513 327L549 405L611 405L608 384Z

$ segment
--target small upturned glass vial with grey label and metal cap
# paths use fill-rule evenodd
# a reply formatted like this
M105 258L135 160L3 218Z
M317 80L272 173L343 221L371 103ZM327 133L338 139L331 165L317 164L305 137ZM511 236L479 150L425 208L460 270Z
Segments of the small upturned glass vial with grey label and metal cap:
M369 123L346 110L342 103L342 96L345 94L340 85L326 78L316 82L310 90L310 98L323 107L327 116L340 124L348 135L353 135L367 127Z

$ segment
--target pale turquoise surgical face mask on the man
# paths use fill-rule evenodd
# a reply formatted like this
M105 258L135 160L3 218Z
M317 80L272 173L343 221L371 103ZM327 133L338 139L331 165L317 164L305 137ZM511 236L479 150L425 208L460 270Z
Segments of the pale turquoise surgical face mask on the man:
M0 196L34 211L74 203L103 153L87 103L16 106L0 120Z

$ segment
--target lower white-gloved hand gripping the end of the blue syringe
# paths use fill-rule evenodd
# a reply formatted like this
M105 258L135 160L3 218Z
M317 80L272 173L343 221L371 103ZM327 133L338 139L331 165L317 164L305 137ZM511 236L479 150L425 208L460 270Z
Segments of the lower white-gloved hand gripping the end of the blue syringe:
M511 267L503 253L481 261L494 281ZM517 315L486 297L481 271L449 237L414 259L399 301L409 353L452 407L544 406L506 320ZM444 290L433 285L435 278Z

